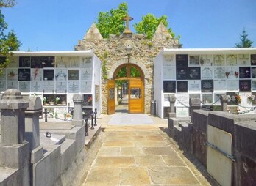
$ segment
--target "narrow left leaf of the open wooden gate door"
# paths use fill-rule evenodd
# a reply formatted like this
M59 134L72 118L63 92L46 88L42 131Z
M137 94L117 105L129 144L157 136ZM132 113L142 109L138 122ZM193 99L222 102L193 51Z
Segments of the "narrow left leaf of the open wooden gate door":
M107 114L115 114L115 81L107 81Z

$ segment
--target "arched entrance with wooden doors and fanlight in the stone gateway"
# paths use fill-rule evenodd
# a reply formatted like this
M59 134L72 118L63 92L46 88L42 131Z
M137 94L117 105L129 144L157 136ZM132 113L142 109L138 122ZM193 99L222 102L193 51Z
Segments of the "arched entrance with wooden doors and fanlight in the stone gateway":
M117 91L116 91L117 89ZM115 103L127 100L128 113L144 113L144 74L136 64L121 64L107 81L107 114L115 114Z

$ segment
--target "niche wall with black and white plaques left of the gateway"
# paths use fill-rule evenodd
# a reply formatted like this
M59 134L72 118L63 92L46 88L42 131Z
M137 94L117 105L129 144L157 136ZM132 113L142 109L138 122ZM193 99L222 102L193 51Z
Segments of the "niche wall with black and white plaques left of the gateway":
M1 70L0 92L19 89L24 96L38 95L55 117L71 117L77 93L84 94L85 111L93 108L93 57L12 56L8 68Z

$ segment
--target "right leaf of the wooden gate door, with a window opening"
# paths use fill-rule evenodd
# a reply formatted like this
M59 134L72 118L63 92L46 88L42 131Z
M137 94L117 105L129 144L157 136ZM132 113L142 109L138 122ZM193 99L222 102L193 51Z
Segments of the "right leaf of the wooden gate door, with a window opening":
M141 79L129 79L129 113L144 113L144 86Z

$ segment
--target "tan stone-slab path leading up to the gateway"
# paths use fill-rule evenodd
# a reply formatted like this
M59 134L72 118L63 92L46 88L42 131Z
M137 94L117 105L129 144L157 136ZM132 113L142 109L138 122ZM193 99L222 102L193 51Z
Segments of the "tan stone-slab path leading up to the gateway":
M210 185L156 125L110 126L83 185Z

